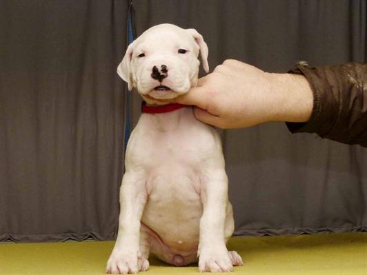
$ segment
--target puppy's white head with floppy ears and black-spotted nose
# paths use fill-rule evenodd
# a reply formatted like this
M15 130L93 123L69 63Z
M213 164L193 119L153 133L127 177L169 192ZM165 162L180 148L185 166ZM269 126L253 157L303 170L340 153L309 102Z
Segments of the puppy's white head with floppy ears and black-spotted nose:
M208 72L208 46L199 32L157 25L128 46L117 73L129 90L135 87L148 103L162 104L197 85L199 51Z

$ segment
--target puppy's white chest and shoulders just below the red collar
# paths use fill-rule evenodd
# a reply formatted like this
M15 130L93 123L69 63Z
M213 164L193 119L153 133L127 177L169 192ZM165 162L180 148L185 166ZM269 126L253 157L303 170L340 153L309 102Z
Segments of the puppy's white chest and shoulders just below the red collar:
M216 132L196 121L163 131L148 122L139 121L132 133L126 165L143 170L148 194L198 193L201 171L218 155Z

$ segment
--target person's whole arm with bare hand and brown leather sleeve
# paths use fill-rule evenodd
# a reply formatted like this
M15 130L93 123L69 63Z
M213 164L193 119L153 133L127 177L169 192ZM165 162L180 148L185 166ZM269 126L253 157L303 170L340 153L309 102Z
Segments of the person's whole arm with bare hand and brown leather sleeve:
M292 73L270 74L225 61L177 102L196 105L197 119L219 128L288 121L291 132L367 146L366 64L308 68L300 63Z

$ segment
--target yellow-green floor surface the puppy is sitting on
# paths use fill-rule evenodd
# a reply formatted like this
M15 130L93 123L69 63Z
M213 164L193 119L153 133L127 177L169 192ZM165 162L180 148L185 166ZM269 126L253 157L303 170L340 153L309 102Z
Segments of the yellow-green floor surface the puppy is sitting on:
M113 242L0 244L0 274L104 274ZM367 275L367 233L232 238L235 274ZM199 274L151 259L144 274Z

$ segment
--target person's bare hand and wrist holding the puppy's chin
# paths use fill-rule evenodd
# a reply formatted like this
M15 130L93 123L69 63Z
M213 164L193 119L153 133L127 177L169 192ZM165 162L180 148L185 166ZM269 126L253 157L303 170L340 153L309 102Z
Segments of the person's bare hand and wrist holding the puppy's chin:
M268 121L308 121L313 93L304 76L270 74L226 60L175 102L195 105L195 116L204 123L245 128Z

